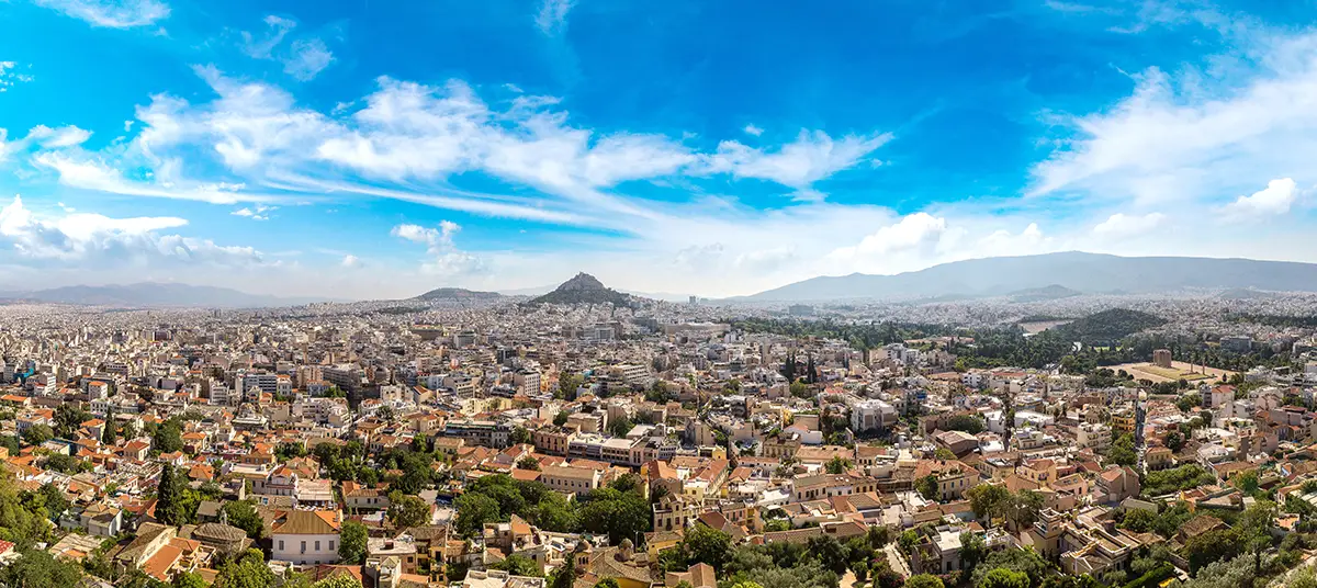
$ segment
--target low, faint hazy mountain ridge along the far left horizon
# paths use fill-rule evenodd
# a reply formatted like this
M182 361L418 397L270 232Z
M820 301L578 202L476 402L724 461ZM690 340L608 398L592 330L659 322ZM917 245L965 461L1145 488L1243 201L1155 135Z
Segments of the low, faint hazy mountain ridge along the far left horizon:
M279 297L240 292L213 285L137 284L65 285L38 291L0 292L9 300L72 304L84 306L175 306L175 308L275 308L299 306L331 299Z

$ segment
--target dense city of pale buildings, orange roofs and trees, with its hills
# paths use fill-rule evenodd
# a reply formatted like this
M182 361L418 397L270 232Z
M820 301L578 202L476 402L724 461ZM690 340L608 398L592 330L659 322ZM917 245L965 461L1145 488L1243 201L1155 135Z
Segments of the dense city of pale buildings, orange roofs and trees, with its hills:
M1312 588L1314 316L0 305L0 584Z

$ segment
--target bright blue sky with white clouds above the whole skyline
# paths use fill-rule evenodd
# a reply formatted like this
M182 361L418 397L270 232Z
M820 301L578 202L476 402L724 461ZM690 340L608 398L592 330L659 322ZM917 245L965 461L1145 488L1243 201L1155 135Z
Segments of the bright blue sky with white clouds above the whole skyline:
M1317 7L1252 4L0 0L0 287L1317 262Z

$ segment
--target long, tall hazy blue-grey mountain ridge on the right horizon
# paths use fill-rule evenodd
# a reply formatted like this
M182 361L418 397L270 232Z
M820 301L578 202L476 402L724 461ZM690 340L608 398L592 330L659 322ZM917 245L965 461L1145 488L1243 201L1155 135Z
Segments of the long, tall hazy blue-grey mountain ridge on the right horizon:
M1254 259L1055 253L969 259L896 275L813 278L745 296L744 301L827 301L931 297L947 292L1004 296L1034 288L1084 293L1154 293L1184 288L1317 292L1317 264Z

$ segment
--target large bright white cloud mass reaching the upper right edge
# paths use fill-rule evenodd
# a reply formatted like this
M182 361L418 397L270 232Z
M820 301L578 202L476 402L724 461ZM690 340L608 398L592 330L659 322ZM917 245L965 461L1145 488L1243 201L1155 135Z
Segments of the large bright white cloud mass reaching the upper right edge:
M1317 33L1249 51L1247 71L1148 68L1112 108L1056 118L1073 137L1033 168L1030 193L1212 205L1299 178L1317 153Z

